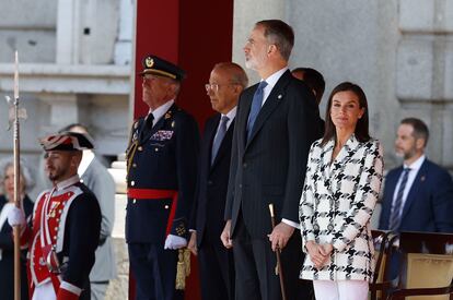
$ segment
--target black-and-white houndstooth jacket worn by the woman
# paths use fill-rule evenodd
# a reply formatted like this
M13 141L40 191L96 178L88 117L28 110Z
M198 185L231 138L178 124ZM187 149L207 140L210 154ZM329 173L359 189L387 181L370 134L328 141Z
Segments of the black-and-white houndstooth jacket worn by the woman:
M302 244L332 243L334 251L321 269L306 255L300 277L370 281L374 271L370 218L381 189L383 149L378 140L361 143L352 134L330 164L334 146L334 140L324 146L321 140L313 143L299 206Z

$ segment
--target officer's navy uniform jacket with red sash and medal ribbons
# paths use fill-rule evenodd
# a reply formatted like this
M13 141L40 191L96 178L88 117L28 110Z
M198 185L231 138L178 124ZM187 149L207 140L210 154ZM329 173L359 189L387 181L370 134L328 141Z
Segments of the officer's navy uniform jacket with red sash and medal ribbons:
M132 125L127 148L126 241L162 243L169 233L187 239L194 200L199 131L195 119L176 105L144 131Z

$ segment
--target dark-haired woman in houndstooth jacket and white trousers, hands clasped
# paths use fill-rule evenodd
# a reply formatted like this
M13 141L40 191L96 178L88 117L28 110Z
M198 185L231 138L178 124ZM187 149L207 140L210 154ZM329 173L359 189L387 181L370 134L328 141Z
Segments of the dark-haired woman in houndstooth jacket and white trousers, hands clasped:
M370 218L381 189L382 146L368 132L367 97L345 82L334 88L326 132L313 143L300 201L301 278L316 299L364 300L374 269Z

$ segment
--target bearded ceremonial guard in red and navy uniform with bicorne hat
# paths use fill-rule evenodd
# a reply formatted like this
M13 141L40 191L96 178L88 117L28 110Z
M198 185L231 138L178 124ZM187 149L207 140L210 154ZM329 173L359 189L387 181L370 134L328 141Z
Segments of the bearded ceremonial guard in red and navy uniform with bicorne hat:
M46 173L54 183L36 200L25 224L15 208L8 220L23 227L21 245L28 247L28 286L33 300L90 299L89 274L98 244L101 211L94 194L77 173L82 149L93 147L81 133L61 133L40 140Z

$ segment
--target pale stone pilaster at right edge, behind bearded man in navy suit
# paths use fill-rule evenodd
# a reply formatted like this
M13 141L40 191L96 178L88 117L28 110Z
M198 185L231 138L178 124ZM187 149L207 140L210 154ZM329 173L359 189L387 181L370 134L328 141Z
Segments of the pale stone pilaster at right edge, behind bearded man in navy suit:
M430 129L428 156L453 168L453 3L399 0L396 96L400 117Z

